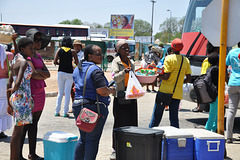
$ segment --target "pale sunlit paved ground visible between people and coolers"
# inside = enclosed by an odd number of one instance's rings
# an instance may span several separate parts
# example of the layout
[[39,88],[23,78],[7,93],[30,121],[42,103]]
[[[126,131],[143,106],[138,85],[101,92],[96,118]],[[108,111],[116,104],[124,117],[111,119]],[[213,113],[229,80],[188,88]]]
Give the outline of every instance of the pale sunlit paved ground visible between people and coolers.
[[[51,67],[49,67],[51,68]],[[51,70],[55,70],[54,67]],[[51,71],[53,73],[55,71]],[[106,72],[106,75],[109,76],[109,72]],[[56,78],[56,76],[55,76]],[[50,80],[51,79],[51,80]],[[55,92],[57,90],[56,79],[52,74],[52,77],[47,80],[48,87],[47,90]],[[55,86],[50,89],[50,86]],[[138,100],[138,114],[139,114],[139,126],[140,127],[148,127],[150,122],[153,103],[155,100],[155,93],[147,93],[144,97]],[[55,117],[54,116],[54,108],[56,103],[56,97],[48,97],[46,99],[45,108],[42,114],[42,117],[39,122],[39,131],[38,131],[38,143],[37,143],[37,154],[40,156],[44,156],[43,151],[43,136],[45,133],[50,131],[64,131],[70,132],[79,136],[77,127],[75,126],[73,115],[71,114],[69,118],[64,118],[62,116]],[[196,106],[195,103],[182,101],[181,110],[179,111],[180,118],[180,128],[194,128],[195,125],[204,125],[208,118],[208,113],[193,113],[191,109]],[[240,151],[240,112],[237,113],[237,118],[235,120],[234,127],[234,138],[235,141],[233,144],[227,144],[227,155],[229,158],[233,160],[240,160],[239,151]],[[169,125],[168,120],[168,111],[164,113],[163,120],[160,126]],[[103,135],[101,137],[99,152],[97,156],[97,160],[108,160],[111,154],[111,143],[112,143],[112,126],[113,126],[113,115],[112,115],[112,103],[109,106],[109,116],[104,127]],[[6,139],[0,139],[0,160],[8,160],[10,153],[10,139],[12,129],[5,132],[9,135]],[[23,150],[24,157],[26,158],[28,155],[28,139],[26,138],[26,142]]]

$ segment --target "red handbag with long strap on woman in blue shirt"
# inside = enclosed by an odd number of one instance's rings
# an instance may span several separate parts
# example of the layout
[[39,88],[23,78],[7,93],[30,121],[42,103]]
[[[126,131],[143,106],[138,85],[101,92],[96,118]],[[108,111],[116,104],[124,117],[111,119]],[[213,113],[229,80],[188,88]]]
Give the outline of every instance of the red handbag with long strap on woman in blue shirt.
[[[91,68],[92,66],[90,66],[88,68],[88,70]],[[87,72],[88,72],[87,70]],[[85,75],[85,79],[84,79],[84,86],[83,86],[83,99],[84,99],[84,94],[85,94],[85,89],[86,89],[86,79],[87,79],[87,72]],[[100,108],[99,108],[99,101],[98,101],[98,95],[96,94],[97,97],[97,110],[98,113],[88,109],[88,108],[84,108],[83,107],[83,101],[81,104],[81,111],[77,117],[76,120],[76,125],[77,127],[84,132],[92,132],[94,130],[94,128],[96,127],[96,124],[98,122],[98,119],[100,117]]]

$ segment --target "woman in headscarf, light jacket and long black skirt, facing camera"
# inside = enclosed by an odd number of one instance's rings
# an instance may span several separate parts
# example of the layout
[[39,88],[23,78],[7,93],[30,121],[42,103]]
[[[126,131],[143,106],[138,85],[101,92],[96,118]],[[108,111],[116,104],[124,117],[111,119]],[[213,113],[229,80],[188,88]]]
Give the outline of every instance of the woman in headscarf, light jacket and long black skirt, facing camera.
[[[123,126],[138,126],[137,100],[125,100],[123,95],[126,91],[129,71],[134,71],[134,62],[129,56],[129,46],[126,40],[120,40],[116,44],[117,57],[112,62],[112,75],[117,83],[116,94],[113,100],[113,128]],[[120,98],[121,97],[121,98]],[[126,102],[126,103],[122,103]],[[113,153],[110,159],[115,159],[115,141],[112,140]]]

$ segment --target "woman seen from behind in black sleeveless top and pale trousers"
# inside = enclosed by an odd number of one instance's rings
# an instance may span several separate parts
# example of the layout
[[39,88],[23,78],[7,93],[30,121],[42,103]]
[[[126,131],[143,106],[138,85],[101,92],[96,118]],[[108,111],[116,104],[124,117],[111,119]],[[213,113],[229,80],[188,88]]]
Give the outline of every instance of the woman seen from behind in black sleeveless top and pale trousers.
[[77,54],[72,48],[72,39],[69,36],[63,38],[62,47],[59,48],[54,57],[54,64],[58,67],[58,96],[55,108],[55,116],[60,116],[61,103],[63,94],[65,93],[65,104],[63,108],[63,117],[69,117],[69,103],[71,97],[71,88],[73,84],[73,65],[74,58],[75,64],[78,65]]

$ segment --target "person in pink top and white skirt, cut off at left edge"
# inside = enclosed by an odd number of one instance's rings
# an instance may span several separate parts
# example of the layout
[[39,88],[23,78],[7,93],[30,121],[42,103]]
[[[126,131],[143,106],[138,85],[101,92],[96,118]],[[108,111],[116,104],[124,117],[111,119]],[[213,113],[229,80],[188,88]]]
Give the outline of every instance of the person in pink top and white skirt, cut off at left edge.
[[12,117],[7,114],[7,82],[9,78],[9,61],[13,60],[13,53],[6,52],[0,44],[0,138],[7,138],[4,131],[12,127]]

